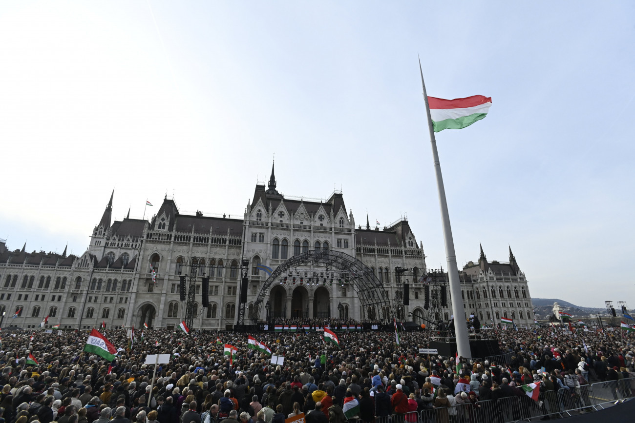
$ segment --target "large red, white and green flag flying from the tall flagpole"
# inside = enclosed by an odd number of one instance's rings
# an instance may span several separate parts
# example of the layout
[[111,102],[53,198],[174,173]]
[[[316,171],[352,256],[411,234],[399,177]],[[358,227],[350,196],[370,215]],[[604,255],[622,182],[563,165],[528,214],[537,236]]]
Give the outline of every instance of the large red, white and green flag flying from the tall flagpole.
[[491,97],[471,96],[445,100],[428,97],[434,132],[443,129],[463,129],[483,119],[491,106]]

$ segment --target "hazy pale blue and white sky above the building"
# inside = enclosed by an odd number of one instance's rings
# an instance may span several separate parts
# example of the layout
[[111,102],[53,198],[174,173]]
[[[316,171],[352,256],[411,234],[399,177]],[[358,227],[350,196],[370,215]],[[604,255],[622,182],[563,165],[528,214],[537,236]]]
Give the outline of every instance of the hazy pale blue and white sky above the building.
[[[396,3],[396,4],[395,4]],[[459,265],[507,261],[533,297],[635,307],[635,4],[0,3],[0,238],[81,254],[114,218],[242,217],[254,185],[407,214],[445,264],[431,96],[484,94],[437,141]]]

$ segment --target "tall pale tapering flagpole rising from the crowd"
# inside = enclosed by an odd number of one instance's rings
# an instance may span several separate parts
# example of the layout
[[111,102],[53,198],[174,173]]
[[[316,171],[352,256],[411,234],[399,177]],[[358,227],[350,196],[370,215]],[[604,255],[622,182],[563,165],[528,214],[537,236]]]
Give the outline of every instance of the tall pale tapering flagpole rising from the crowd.
[[448,202],[445,199],[445,188],[443,187],[443,175],[441,174],[441,163],[439,153],[436,148],[436,138],[434,138],[434,127],[430,115],[430,105],[428,95],[425,92],[424,71],[421,68],[419,59],[419,72],[421,72],[421,85],[424,88],[425,113],[428,117],[428,127],[430,130],[430,143],[432,144],[432,160],[434,161],[434,172],[436,173],[437,188],[439,190],[439,205],[441,206],[441,222],[443,223],[443,238],[445,239],[445,255],[448,260],[448,278],[450,279],[450,296],[452,297],[452,313],[454,314],[454,330],[457,334],[457,352],[459,356],[471,357],[470,340],[467,335],[465,325],[465,311],[461,297],[461,282],[458,279],[457,255],[454,252],[454,240],[452,239],[452,228],[450,226],[450,214],[448,213]]

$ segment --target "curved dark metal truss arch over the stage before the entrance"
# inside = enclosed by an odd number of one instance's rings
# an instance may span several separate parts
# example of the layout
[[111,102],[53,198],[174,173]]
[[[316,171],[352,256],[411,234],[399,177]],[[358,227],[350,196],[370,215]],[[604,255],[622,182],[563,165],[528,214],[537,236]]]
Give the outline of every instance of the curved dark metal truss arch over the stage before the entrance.
[[[302,266],[311,266],[310,270],[302,270],[302,274],[309,271],[308,278],[302,277],[301,272],[298,271],[298,267]],[[284,261],[262,283],[256,301],[253,303],[251,323],[256,324],[259,318],[264,318],[260,316],[263,301],[269,296],[272,285],[276,283],[349,286],[358,295],[363,310],[363,320],[380,320],[382,310],[392,314],[391,303],[385,293],[384,284],[368,266],[344,252],[330,249],[311,250]],[[392,315],[382,315],[381,318],[388,322],[392,320]]]

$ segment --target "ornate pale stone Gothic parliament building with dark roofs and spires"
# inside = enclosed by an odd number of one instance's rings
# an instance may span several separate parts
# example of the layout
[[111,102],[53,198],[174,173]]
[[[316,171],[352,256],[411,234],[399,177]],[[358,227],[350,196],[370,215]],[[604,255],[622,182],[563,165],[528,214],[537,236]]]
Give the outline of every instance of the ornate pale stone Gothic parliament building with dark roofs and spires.
[[[417,241],[408,219],[384,228],[356,225],[342,192],[328,199],[285,198],[276,190],[272,167],[267,186],[257,183],[253,198],[241,219],[180,214],[174,200],[164,198],[155,216],[112,221],[114,192],[104,215],[91,233],[90,245],[80,256],[44,251],[10,251],[0,240],[0,315],[4,327],[15,325],[91,329],[105,323],[112,327],[178,327],[185,319],[180,297],[181,277],[197,263],[194,327],[232,329],[237,323],[243,273],[246,273],[246,319],[253,317],[253,303],[269,277],[287,259],[310,250],[343,252],[374,273],[396,318],[417,325],[430,318],[423,244]],[[407,273],[396,273],[396,268]],[[153,276],[152,271],[156,272]],[[311,269],[295,269],[302,277]],[[335,273],[337,270],[331,270]],[[331,278],[333,277],[331,273]],[[534,323],[533,306],[525,273],[509,249],[509,261],[488,261],[481,247],[478,262],[470,261],[460,273],[464,316],[478,316],[481,324],[511,318],[519,326]],[[405,276],[404,276],[405,275]],[[192,278],[194,277],[194,278]],[[208,301],[202,301],[203,277],[209,278]],[[337,275],[335,275],[337,279]],[[153,280],[154,279],[154,280]],[[277,318],[348,318],[390,320],[389,309],[364,310],[352,284],[274,283],[265,292],[267,310],[259,320]],[[404,302],[408,286],[410,301]],[[444,289],[445,291],[445,289]],[[449,289],[447,297],[450,296]],[[206,307],[203,304],[208,303]],[[394,310],[394,309],[393,309]],[[11,318],[17,313],[15,318]],[[436,320],[452,317],[449,298],[438,304]]]

